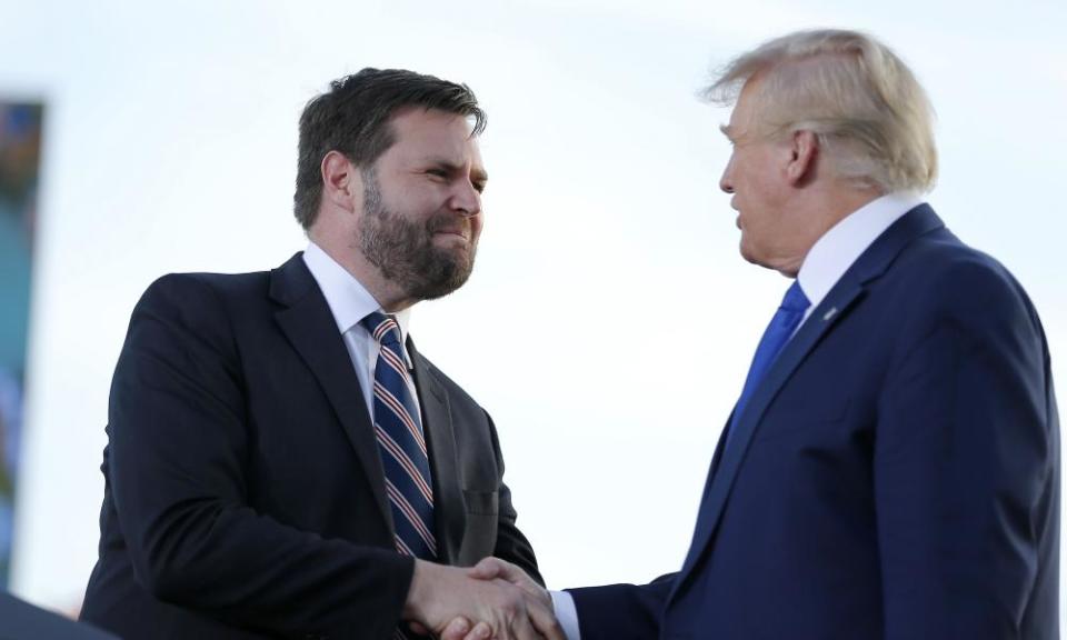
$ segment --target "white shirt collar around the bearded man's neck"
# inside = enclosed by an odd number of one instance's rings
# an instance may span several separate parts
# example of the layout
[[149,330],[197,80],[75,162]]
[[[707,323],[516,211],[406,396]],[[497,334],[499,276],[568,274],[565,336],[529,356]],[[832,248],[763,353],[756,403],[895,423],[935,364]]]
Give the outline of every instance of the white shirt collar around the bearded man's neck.
[[[367,288],[349,273],[343,267],[323,251],[315,242],[309,242],[303,251],[303,262],[311,271],[315,281],[319,283],[326,303],[337,322],[337,330],[342,334],[356,327],[367,316],[375,311],[382,311],[381,304],[367,291]],[[411,308],[392,313],[400,326],[400,342],[408,339],[408,322],[411,320]],[[407,351],[407,350],[405,350]],[[409,362],[410,364],[410,362]]]

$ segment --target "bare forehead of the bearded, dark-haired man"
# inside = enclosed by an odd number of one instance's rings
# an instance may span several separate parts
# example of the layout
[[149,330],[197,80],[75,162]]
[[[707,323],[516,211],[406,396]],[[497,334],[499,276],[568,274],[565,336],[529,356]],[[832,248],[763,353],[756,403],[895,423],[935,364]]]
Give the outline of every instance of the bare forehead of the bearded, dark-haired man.
[[473,127],[466,116],[408,109],[393,116],[390,126],[396,140],[386,153],[401,161],[437,158],[462,164],[481,162],[478,138],[471,136]]

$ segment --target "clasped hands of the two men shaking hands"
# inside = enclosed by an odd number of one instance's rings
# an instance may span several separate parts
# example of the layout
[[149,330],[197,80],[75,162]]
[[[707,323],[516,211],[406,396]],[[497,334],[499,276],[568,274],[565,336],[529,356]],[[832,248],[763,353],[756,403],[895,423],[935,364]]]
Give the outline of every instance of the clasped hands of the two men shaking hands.
[[401,617],[440,640],[567,640],[548,591],[499,558],[470,569],[416,560]]

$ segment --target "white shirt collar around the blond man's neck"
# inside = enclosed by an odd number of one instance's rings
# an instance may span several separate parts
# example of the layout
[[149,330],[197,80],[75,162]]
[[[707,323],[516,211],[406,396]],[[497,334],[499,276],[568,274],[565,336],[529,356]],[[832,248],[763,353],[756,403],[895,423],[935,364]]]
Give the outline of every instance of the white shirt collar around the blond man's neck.
[[809,312],[886,229],[921,202],[918,193],[888,193],[864,204],[824,233],[808,251],[797,274],[800,288],[811,301]]

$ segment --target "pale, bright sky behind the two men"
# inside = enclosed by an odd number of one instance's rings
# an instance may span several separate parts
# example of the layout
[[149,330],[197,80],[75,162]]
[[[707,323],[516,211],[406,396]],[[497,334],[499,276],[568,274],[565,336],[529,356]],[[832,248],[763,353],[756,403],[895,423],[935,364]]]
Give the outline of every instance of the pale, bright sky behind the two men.
[[768,38],[857,28],[911,66],[938,113],[929,202],[1027,289],[1065,389],[1063,6],[0,0],[0,99],[48,104],[13,590],[81,598],[108,388],[140,293],[166,272],[270,269],[301,250],[300,109],[368,66],[467,82],[489,113],[475,276],[417,307],[411,334],[492,414],[550,587],[647,581],[687,550],[788,286],[737,252],[718,190],[729,112],[695,94]]

